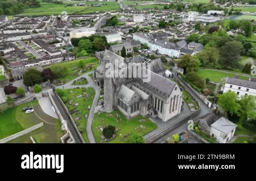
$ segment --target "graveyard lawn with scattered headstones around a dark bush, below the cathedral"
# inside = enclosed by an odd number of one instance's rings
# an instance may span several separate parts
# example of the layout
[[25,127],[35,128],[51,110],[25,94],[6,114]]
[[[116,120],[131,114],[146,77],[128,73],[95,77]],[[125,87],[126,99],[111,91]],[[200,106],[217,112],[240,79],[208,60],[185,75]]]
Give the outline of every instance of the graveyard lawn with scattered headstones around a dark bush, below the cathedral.
[[[109,125],[115,127],[114,136],[110,139],[103,134],[104,128]],[[120,111],[95,113],[92,124],[93,134],[97,143],[128,143],[132,135],[144,135],[156,128],[157,124],[149,120],[148,117],[137,116],[128,120]]]

